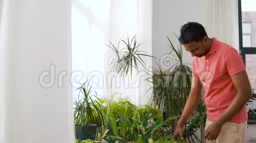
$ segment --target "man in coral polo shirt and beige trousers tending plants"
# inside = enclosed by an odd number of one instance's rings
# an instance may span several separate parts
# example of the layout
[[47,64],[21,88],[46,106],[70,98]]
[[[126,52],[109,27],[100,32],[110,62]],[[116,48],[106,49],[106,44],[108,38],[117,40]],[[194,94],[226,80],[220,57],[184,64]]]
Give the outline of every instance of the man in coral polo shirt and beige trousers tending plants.
[[181,27],[179,41],[193,57],[193,79],[173,137],[183,139],[182,126],[194,111],[203,87],[207,143],[246,143],[246,102],[252,89],[241,56],[232,46],[209,38],[196,22]]

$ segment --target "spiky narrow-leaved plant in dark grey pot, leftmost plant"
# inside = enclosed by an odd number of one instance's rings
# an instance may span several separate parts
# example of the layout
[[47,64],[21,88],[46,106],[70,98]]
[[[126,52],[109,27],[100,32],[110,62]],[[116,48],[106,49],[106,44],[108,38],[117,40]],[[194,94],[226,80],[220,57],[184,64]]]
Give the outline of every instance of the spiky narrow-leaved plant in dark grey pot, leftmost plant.
[[[91,86],[87,81],[76,89],[79,94],[74,101],[75,136],[79,140],[95,139],[97,127],[105,127],[105,118],[97,101],[100,99],[96,92],[92,95]],[[97,121],[100,125],[88,124],[90,121]]]

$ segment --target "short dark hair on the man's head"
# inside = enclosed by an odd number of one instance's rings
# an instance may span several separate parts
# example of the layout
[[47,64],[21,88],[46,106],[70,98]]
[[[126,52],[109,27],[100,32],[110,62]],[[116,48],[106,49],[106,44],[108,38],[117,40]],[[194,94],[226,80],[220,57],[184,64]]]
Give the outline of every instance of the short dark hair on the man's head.
[[207,36],[207,33],[203,25],[197,22],[188,22],[181,26],[179,41],[181,44],[187,44],[193,41],[199,42],[205,36]]

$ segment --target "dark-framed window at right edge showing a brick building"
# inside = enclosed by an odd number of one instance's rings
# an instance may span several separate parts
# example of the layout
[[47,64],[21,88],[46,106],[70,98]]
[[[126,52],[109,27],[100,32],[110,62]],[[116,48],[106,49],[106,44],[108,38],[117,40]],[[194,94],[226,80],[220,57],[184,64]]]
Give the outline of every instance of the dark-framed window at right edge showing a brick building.
[[[252,90],[256,89],[256,0],[238,0],[239,47]],[[248,109],[255,109],[256,101]]]

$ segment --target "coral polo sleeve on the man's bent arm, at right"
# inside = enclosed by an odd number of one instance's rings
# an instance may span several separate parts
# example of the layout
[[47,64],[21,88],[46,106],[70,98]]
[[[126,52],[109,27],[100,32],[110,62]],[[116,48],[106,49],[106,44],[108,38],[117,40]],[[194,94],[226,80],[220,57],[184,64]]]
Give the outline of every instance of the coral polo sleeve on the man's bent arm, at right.
[[225,64],[230,76],[245,71],[245,64],[242,56],[234,48],[230,48],[226,51]]

